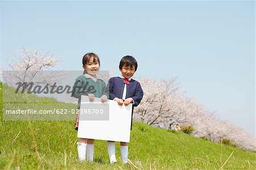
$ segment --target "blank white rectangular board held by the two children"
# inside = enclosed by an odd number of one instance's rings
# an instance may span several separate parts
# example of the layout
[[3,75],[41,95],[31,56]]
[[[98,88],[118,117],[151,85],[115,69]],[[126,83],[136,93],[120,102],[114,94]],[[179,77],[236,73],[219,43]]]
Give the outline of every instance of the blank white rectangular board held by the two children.
[[[89,102],[88,96],[81,96],[80,109],[86,109],[88,103],[90,105],[97,103],[98,106],[101,99],[94,98],[93,102]],[[117,102],[113,100],[108,100],[107,104],[109,104],[109,121],[82,121],[86,120],[85,114],[80,114],[78,138],[130,142],[132,105],[118,106]],[[101,105],[101,108],[108,109],[106,103],[101,103]]]

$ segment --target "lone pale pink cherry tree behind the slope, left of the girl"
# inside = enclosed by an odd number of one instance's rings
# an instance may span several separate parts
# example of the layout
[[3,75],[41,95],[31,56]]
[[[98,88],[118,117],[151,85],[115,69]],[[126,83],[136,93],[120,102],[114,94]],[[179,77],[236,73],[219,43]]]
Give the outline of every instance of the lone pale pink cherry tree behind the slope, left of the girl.
[[[53,84],[61,79],[61,74],[50,71],[59,62],[59,58],[47,52],[43,55],[39,49],[35,52],[20,49],[23,55],[16,55],[15,59],[10,59],[7,68],[1,68],[3,80],[9,85],[15,86],[16,82],[21,82],[25,89],[28,83]],[[43,72],[47,71],[47,72]]]

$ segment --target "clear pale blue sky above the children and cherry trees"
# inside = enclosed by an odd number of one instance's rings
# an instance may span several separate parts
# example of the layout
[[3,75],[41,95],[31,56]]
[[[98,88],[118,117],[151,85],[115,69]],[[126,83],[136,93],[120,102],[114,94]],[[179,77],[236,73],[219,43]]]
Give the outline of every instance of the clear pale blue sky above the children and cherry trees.
[[1,66],[20,47],[82,70],[86,52],[119,73],[122,56],[138,77],[178,77],[188,97],[255,136],[254,1],[1,1]]

